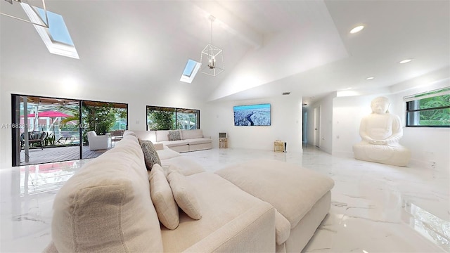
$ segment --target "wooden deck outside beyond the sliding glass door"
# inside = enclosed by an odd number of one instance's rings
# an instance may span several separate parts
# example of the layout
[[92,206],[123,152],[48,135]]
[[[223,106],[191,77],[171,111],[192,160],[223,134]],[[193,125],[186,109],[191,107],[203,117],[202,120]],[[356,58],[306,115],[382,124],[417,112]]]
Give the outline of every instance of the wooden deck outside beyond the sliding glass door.
[[[100,156],[107,150],[89,150],[89,146],[83,146],[83,159],[90,159]],[[63,162],[79,160],[79,146],[51,147],[30,149],[30,161],[25,162],[25,151],[20,152],[20,165],[42,164],[47,162]]]

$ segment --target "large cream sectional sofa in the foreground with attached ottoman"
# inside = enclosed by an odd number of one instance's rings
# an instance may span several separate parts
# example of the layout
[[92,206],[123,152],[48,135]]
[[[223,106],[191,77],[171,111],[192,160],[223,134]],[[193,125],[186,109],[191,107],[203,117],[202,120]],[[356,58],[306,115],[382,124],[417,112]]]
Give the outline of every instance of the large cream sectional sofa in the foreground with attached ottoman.
[[273,160],[211,173],[154,145],[170,187],[172,173],[182,174],[201,211],[192,219],[180,209],[178,226],[166,228],[139,143],[127,131],[65,183],[45,252],[301,252],[330,208],[328,176]]

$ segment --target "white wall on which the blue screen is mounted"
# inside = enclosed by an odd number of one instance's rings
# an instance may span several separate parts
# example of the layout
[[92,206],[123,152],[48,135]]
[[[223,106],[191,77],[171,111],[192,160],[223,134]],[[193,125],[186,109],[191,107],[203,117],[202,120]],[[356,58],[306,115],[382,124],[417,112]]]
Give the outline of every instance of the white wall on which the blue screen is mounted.
[[[271,126],[234,126],[233,106],[271,104]],[[258,100],[207,103],[202,111],[204,134],[212,136],[217,148],[219,132],[228,134],[229,148],[273,150],[274,141],[288,143],[288,152],[302,151],[302,99],[278,96]]]

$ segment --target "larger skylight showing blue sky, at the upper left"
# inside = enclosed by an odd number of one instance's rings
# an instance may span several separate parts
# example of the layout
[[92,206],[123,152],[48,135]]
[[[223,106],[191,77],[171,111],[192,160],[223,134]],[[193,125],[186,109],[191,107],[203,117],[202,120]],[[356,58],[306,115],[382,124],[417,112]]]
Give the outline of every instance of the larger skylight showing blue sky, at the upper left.
[[[28,18],[30,18],[30,21],[44,24],[42,21],[46,18],[44,9],[28,4],[20,4],[25,13],[27,13]],[[49,28],[41,27],[39,25],[34,25],[34,28],[36,28],[37,33],[41,36],[41,39],[44,41],[47,49],[49,49],[49,52],[60,56],[79,59],[77,49],[75,49],[75,45],[70,37],[68,27],[65,26],[63,16],[47,11],[47,17],[49,18]]]

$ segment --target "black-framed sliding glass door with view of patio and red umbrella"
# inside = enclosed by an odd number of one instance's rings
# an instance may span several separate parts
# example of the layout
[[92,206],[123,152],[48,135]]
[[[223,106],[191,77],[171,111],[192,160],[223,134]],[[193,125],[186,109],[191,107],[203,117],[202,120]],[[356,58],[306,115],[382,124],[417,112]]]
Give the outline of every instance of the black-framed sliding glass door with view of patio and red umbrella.
[[87,131],[105,135],[127,129],[128,105],[13,94],[13,166],[94,158]]

